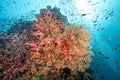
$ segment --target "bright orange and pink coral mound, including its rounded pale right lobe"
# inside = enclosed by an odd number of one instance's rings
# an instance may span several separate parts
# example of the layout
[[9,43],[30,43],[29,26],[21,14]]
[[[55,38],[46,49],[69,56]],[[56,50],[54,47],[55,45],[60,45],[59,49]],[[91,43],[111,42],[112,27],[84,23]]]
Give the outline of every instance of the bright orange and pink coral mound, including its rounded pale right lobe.
[[59,15],[48,7],[36,16],[37,22],[33,24],[36,40],[26,43],[31,47],[29,59],[34,75],[51,73],[60,76],[64,68],[70,69],[70,74],[76,74],[89,68],[90,34],[76,25],[65,28],[66,21]]

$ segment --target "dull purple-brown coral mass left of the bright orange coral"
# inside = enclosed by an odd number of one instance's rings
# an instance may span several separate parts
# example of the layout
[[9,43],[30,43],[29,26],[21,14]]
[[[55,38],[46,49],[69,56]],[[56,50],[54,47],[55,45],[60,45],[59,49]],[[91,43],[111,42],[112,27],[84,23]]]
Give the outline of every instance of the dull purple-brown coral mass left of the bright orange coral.
[[32,38],[32,23],[15,23],[7,33],[0,32],[0,80],[16,79],[27,70],[28,50],[24,45]]

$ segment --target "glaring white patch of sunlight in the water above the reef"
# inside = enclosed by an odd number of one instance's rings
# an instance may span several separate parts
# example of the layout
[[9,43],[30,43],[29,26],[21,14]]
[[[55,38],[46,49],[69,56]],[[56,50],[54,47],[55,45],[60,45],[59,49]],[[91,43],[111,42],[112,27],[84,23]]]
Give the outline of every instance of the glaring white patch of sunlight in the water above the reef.
[[[93,3],[93,2],[92,2]],[[82,14],[86,21],[90,21],[95,16],[95,7],[87,0],[75,0],[75,6],[78,13]]]

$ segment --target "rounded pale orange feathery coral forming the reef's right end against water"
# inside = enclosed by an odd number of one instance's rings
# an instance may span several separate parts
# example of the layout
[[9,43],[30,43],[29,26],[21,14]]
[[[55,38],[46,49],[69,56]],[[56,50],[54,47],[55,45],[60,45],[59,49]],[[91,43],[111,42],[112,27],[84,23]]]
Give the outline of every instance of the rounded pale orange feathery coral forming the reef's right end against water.
[[[63,50],[67,56],[61,60],[61,67],[69,68],[73,73],[77,71],[84,72],[89,68],[92,51],[90,50],[91,36],[83,27],[71,25],[65,29],[67,44]],[[66,46],[67,45],[67,46]],[[60,66],[59,63],[55,64]]]

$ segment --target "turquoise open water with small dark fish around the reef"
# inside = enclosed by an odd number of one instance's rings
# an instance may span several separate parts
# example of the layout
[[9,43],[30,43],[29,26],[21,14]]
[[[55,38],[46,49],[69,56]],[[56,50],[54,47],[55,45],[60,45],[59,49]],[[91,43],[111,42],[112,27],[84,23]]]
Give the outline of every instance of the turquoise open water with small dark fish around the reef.
[[57,7],[69,23],[84,25],[92,35],[91,69],[96,80],[120,80],[119,0],[0,0],[0,31],[20,20],[34,21],[46,6]]

